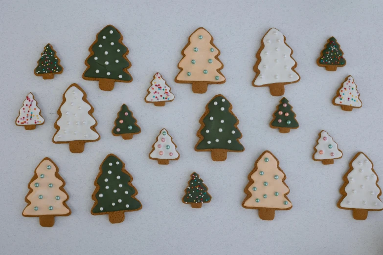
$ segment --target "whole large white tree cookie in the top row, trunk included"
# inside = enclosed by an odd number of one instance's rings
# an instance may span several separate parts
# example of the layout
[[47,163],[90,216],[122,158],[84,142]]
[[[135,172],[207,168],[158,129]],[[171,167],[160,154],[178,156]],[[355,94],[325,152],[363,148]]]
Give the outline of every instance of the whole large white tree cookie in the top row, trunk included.
[[270,28],[262,38],[261,47],[256,54],[257,62],[253,69],[257,74],[253,86],[269,86],[271,95],[282,96],[285,85],[300,80],[292,55],[293,50],[287,45],[286,37],[277,29]]

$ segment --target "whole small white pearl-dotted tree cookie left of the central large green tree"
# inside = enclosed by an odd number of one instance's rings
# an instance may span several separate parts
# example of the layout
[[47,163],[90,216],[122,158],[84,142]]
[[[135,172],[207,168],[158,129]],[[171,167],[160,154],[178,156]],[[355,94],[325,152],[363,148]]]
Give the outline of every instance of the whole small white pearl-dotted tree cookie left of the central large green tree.
[[153,144],[149,158],[158,161],[159,165],[168,165],[169,160],[178,160],[180,154],[177,152],[177,145],[173,143],[173,138],[168,131],[163,128],[157,136],[157,142]]

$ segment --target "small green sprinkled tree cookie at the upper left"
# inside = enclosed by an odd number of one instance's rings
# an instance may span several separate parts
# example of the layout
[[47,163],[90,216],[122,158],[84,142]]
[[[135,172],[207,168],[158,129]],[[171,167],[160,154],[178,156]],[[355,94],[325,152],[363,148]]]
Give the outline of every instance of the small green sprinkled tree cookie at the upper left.
[[43,76],[44,80],[53,79],[55,74],[61,74],[64,70],[60,65],[60,59],[56,56],[56,51],[49,43],[44,47],[37,64],[35,75]]

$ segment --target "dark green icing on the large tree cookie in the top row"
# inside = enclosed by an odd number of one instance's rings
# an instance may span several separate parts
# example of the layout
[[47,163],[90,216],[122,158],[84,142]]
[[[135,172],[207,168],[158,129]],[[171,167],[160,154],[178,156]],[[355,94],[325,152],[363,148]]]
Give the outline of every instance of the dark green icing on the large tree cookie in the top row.
[[[110,31],[113,31],[111,34]],[[105,36],[105,39],[103,37]],[[130,81],[132,76],[124,72],[124,69],[130,67],[129,62],[126,59],[126,56],[123,55],[128,51],[128,48],[123,44],[119,43],[121,34],[113,26],[106,26],[102,29],[97,36],[97,40],[93,43],[92,51],[93,54],[87,59],[87,64],[89,68],[84,73],[85,77],[90,78],[106,78],[106,79],[115,79],[121,81]],[[113,45],[111,45],[113,43]],[[102,45],[100,47],[100,45]],[[118,52],[119,50],[119,52]],[[108,51],[108,54],[105,54],[105,51]],[[97,58],[95,60],[94,58]],[[118,60],[118,63],[116,63]],[[105,64],[108,61],[109,64]],[[98,73],[96,73],[98,70]],[[110,75],[107,73],[110,72]],[[121,78],[118,76],[122,75]]]

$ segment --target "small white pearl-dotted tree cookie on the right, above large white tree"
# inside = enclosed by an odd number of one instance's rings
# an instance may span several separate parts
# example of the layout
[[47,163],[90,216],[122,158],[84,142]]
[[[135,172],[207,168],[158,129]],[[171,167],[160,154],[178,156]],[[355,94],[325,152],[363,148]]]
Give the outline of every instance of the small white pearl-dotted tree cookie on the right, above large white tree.
[[314,149],[313,159],[322,161],[323,165],[334,164],[334,159],[342,157],[342,151],[338,149],[338,144],[324,130],[319,132],[319,138]]

